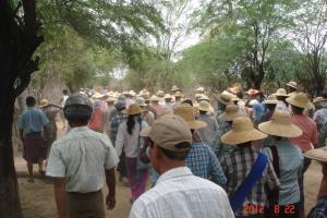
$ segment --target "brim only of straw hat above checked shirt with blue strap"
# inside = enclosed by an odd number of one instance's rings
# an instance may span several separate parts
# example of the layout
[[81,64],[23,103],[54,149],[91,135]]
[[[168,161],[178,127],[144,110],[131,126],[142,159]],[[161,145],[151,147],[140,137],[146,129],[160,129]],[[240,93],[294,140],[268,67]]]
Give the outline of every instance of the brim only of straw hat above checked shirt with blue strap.
[[231,130],[221,136],[221,142],[228,145],[238,145],[246,142],[264,140],[266,137],[267,134],[255,129],[242,132],[235,132]]

